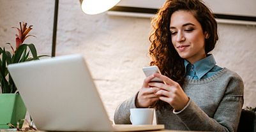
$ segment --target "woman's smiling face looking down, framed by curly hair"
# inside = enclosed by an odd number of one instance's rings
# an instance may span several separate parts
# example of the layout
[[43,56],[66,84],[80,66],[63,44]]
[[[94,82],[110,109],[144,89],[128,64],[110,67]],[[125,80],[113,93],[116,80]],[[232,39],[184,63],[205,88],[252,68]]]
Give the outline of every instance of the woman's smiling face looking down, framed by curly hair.
[[195,63],[206,57],[202,26],[191,11],[179,10],[170,17],[170,33],[172,43],[179,56],[190,63]]

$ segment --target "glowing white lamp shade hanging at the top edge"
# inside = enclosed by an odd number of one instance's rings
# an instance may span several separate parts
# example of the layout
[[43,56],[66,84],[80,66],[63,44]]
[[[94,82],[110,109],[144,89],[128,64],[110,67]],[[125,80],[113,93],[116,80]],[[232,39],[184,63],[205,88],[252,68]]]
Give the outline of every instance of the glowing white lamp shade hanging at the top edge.
[[80,0],[84,13],[95,15],[109,10],[121,0]]

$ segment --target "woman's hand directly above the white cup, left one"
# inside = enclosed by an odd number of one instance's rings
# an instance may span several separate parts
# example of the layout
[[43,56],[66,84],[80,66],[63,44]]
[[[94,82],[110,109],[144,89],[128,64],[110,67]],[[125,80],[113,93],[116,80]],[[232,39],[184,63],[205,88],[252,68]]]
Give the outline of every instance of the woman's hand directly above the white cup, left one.
[[158,87],[149,87],[149,82],[153,78],[154,75],[151,75],[144,80],[142,88],[139,90],[139,94],[137,96],[137,107],[148,107],[153,105],[153,103],[159,99],[155,93],[160,89]]

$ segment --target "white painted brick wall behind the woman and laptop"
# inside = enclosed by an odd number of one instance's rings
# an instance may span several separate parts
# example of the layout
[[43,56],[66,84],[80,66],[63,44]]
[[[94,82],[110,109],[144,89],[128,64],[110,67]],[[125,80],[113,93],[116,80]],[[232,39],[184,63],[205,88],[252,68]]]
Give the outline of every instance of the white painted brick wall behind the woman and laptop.
[[[79,1],[59,1],[56,55],[83,54],[110,118],[116,106],[142,85],[142,67],[150,61],[150,20],[86,15]],[[19,21],[33,25],[25,42],[39,54],[51,52],[54,1],[0,0],[0,45],[15,45]],[[213,52],[220,66],[236,71],[245,82],[245,105],[256,106],[256,26],[219,24],[220,41]],[[8,46],[5,46],[8,48]],[[253,96],[254,95],[254,96]]]

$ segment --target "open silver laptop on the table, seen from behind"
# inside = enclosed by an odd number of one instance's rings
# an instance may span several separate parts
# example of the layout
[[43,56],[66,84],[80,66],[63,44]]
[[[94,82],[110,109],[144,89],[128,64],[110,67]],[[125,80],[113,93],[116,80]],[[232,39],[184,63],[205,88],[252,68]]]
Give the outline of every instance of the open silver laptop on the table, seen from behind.
[[37,129],[146,131],[163,125],[113,125],[82,55],[63,55],[8,66]]

